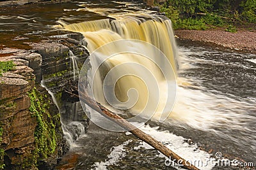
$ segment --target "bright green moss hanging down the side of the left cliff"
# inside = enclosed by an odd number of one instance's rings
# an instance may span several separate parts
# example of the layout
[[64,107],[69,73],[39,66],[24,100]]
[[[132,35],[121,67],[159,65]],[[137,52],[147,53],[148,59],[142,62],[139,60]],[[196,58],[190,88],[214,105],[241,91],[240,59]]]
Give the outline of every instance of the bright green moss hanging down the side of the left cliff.
[[[33,89],[29,93],[31,106],[29,111],[32,117],[36,117],[37,125],[35,129],[35,150],[33,161],[36,164],[38,159],[45,159],[56,150],[55,126],[52,123],[51,115],[47,111],[49,103],[40,92]],[[47,122],[48,120],[48,122]]]

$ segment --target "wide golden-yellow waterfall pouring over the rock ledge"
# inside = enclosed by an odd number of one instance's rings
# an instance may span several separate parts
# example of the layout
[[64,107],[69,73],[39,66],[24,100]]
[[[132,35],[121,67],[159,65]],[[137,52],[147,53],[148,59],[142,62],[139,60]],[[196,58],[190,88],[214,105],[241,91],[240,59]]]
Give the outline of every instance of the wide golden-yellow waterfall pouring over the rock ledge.
[[146,13],[109,17],[115,19],[62,23],[88,43],[92,88],[86,90],[109,109],[165,120],[175,101],[178,68],[171,21]]

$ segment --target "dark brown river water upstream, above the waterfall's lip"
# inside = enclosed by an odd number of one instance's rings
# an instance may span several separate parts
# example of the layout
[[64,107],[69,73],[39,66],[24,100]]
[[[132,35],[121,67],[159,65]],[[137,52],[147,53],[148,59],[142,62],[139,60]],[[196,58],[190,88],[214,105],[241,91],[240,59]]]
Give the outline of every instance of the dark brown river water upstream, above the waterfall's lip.
[[[108,18],[92,12],[76,11],[79,3],[38,3],[0,8],[0,44],[2,48],[29,48],[26,43],[38,42],[61,31],[52,26],[57,20],[76,23]],[[62,32],[63,33],[63,32]]]

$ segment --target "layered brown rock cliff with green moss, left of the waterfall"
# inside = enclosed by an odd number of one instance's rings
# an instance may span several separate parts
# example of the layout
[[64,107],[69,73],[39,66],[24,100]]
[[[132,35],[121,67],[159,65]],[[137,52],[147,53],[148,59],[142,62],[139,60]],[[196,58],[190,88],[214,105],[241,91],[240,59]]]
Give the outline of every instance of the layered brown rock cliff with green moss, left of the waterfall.
[[[76,47],[76,38],[81,39],[76,36],[61,43],[33,45],[38,53],[10,48],[0,51],[0,62],[12,60],[15,64],[11,71],[0,74],[0,167],[51,169],[67,152],[59,109],[40,81],[44,77],[47,87],[60,98],[68,81],[75,81],[68,52],[73,50],[81,61],[87,57]],[[80,119],[84,120],[83,114]]]

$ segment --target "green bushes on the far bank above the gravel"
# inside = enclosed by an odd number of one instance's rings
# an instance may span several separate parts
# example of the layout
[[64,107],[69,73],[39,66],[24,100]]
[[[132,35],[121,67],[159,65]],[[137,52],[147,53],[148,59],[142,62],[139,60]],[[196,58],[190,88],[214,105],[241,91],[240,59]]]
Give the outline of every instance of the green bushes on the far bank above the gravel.
[[168,0],[159,6],[172,20],[174,29],[205,30],[256,22],[256,0]]

